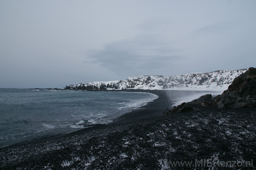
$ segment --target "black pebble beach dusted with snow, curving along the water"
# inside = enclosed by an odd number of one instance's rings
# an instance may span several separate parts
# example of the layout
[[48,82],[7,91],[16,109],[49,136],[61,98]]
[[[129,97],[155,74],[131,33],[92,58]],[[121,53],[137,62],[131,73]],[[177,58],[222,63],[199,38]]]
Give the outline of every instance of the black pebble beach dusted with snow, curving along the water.
[[[171,105],[165,91],[143,92],[159,98],[112,124],[0,148],[0,169],[256,168],[255,109],[162,116]],[[178,165],[184,161],[191,164]]]

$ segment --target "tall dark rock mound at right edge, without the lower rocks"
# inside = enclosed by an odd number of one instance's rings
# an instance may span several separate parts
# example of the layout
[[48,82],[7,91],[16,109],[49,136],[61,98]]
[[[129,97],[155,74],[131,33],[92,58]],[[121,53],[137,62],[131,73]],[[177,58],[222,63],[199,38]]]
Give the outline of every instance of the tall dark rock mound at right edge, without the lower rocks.
[[256,107],[256,68],[249,68],[234,79],[216,100],[219,109]]

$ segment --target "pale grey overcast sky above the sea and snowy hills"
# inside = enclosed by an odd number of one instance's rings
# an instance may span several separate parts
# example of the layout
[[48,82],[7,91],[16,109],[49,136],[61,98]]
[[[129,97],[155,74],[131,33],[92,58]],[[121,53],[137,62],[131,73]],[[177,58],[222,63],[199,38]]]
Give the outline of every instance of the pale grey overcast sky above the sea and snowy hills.
[[0,88],[256,67],[255,0],[1,0]]

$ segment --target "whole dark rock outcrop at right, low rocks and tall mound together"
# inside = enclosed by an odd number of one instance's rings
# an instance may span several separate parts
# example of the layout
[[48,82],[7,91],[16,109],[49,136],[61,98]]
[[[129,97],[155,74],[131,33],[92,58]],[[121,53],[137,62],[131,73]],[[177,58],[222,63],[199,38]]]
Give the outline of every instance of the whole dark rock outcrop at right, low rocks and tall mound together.
[[211,94],[201,96],[191,102],[182,103],[173,108],[166,108],[164,115],[170,113],[200,110],[204,106],[216,105],[218,109],[225,108],[255,108],[256,107],[256,68],[249,68],[245,73],[234,79],[222,95],[212,98]]

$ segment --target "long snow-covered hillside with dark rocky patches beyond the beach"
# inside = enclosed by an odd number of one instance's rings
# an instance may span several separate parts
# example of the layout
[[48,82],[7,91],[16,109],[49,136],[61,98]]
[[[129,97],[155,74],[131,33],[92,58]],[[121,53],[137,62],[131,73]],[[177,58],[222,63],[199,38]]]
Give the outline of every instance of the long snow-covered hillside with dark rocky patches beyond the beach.
[[241,70],[218,70],[210,73],[187,73],[184,75],[144,75],[128,77],[126,80],[80,83],[67,85],[65,89],[182,89],[182,90],[226,90],[234,78],[244,73]]

